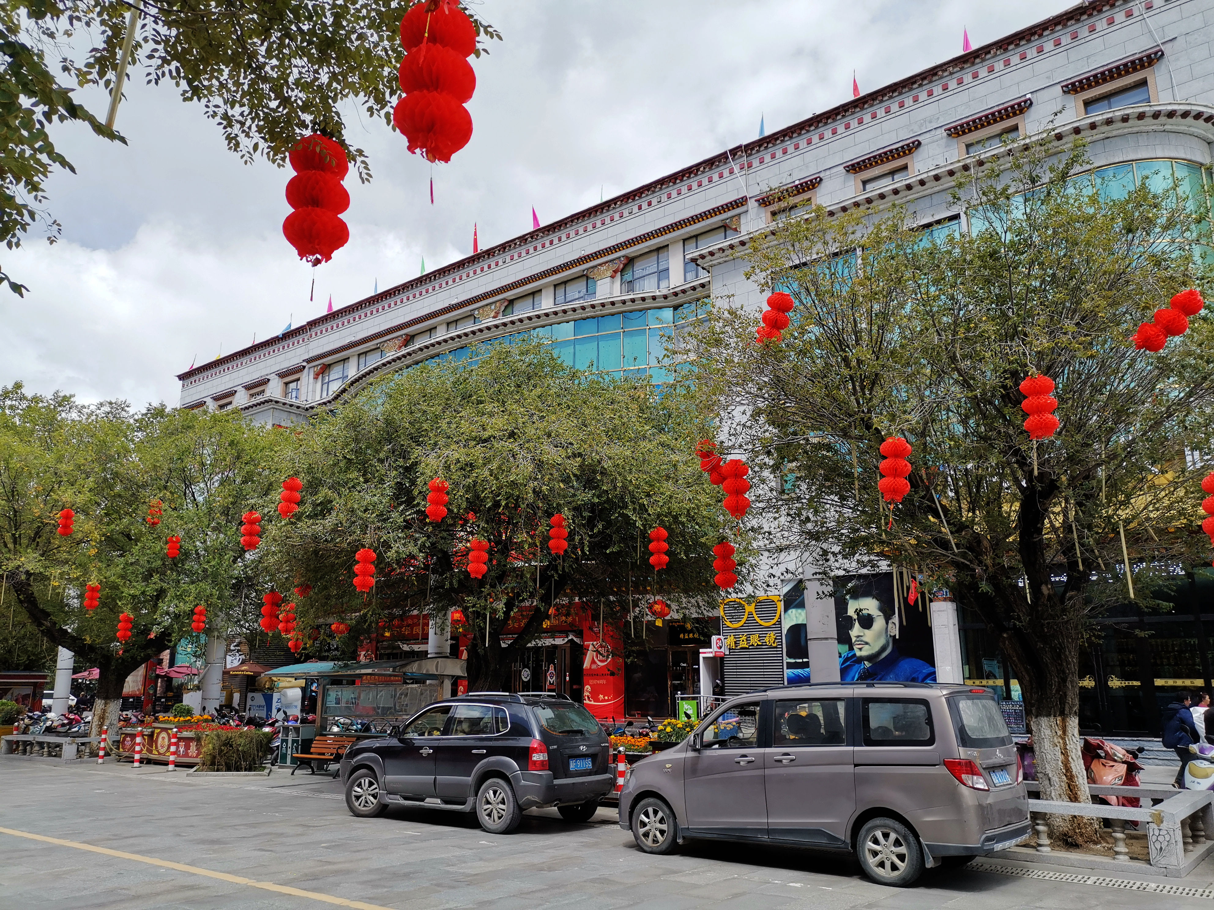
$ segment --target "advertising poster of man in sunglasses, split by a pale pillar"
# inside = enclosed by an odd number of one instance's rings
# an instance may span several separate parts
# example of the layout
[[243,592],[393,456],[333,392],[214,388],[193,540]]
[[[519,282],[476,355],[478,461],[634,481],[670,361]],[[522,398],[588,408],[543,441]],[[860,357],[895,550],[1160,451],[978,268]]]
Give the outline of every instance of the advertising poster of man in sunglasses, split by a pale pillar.
[[[892,571],[839,575],[833,581],[840,679],[936,682],[930,614],[918,584],[896,595]],[[799,586],[789,601],[785,676],[790,683],[810,682],[804,590]]]

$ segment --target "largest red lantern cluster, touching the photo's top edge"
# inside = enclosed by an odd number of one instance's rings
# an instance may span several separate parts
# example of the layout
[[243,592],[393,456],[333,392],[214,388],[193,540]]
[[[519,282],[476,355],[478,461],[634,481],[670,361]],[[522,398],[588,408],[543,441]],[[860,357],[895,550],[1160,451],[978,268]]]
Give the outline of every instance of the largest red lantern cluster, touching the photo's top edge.
[[401,19],[401,90],[392,123],[427,161],[450,161],[472,138],[472,115],[464,107],[476,91],[467,58],[476,50],[476,27],[453,0],[422,0]]

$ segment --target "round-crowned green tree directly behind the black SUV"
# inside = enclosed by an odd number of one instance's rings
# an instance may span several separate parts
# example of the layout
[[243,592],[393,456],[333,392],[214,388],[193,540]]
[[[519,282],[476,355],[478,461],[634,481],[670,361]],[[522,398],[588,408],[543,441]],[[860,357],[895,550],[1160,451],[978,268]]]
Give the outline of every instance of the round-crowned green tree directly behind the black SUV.
[[[711,547],[724,512],[693,454],[696,423],[676,396],[572,370],[541,345],[497,346],[475,366],[427,363],[387,377],[318,420],[283,471],[304,501],[266,538],[283,584],[307,584],[301,626],[344,616],[353,649],[388,612],[465,616],[475,689],[500,689],[552,604],[578,599],[608,621],[643,609],[642,584],[697,613],[714,599]],[[450,484],[448,514],[425,514],[427,483]],[[568,551],[548,546],[561,513]],[[670,564],[654,580],[648,531],[669,533]],[[466,547],[488,541],[473,580]],[[352,586],[354,553],[378,553],[367,597]],[[537,608],[538,603],[538,608]],[[518,612],[526,622],[503,644]],[[331,641],[328,631],[324,641]]]

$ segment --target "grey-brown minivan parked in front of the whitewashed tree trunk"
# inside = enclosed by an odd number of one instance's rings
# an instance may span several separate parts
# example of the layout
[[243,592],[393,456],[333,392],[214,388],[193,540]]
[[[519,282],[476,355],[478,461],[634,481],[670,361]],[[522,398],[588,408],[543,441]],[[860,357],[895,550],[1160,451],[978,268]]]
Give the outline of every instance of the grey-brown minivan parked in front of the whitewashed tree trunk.
[[889,682],[732,699],[629,770],[619,825],[646,853],[698,837],[846,851],[892,886],[1031,830],[1020,760],[991,692]]

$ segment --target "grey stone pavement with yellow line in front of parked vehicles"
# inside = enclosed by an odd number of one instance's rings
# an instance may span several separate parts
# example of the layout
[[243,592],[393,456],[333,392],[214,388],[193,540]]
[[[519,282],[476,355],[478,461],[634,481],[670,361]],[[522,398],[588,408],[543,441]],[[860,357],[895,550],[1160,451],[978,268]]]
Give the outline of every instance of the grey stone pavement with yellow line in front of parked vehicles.
[[[467,815],[424,809],[356,819],[337,781],[278,770],[200,783],[161,767],[0,760],[0,829],[4,910],[1214,908],[1208,898],[982,871],[927,872],[918,887],[896,891],[828,854],[733,844],[648,857],[611,809],[585,825],[531,812],[506,837],[486,835]],[[1210,866],[1185,880],[1129,877],[1209,888]]]

